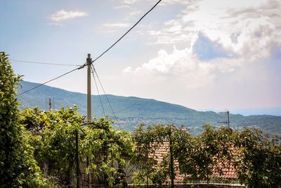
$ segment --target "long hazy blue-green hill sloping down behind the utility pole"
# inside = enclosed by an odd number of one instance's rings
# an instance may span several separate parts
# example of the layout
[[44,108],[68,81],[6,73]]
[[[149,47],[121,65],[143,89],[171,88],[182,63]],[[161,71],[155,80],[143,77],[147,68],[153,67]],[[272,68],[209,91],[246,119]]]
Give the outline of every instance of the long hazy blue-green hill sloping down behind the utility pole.
[[[19,89],[19,93],[38,85],[37,83],[25,81],[22,81],[20,84],[22,84],[22,88]],[[44,110],[48,109],[46,105],[46,99],[48,98],[54,99],[55,108],[73,106],[75,104],[79,106],[79,112],[86,115],[86,94],[68,92],[64,89],[43,85],[18,96],[18,100],[21,101],[20,108],[39,106]],[[107,98],[115,111],[117,120],[119,120],[119,126],[125,130],[133,130],[136,125],[144,121],[145,123],[174,123],[176,125],[185,125],[189,127],[192,134],[197,134],[201,132],[204,123],[221,125],[218,122],[226,121],[225,114],[215,113],[214,111],[195,111],[191,108],[156,101],[154,99],[115,95],[107,95]],[[101,95],[100,99],[103,102],[105,114],[113,119],[114,116],[112,115],[105,95]],[[97,118],[103,116],[99,98],[95,95],[92,96],[92,112]],[[255,126],[271,134],[273,132],[281,134],[281,116],[244,116],[230,114],[230,126],[237,128]]]

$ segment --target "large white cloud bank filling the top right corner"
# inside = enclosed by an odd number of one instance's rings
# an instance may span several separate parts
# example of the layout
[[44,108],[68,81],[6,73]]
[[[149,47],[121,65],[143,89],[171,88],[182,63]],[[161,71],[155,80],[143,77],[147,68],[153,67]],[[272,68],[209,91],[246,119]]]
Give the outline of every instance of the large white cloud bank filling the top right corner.
[[[236,1],[235,1],[236,2]],[[244,58],[270,56],[271,46],[281,46],[281,1],[200,1],[188,4],[178,18],[159,30],[148,30],[154,44],[189,44],[198,32]]]

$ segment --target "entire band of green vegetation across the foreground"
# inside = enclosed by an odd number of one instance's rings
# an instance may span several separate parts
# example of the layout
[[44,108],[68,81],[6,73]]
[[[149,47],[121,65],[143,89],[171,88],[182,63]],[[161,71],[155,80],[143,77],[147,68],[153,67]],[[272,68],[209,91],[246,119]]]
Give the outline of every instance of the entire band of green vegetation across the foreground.
[[[201,134],[192,136],[184,126],[141,123],[131,136],[112,128],[110,119],[85,120],[77,106],[20,111],[20,76],[14,75],[4,53],[0,70],[0,187],[79,187],[85,182],[126,187],[131,178],[136,184],[174,187],[177,168],[187,175],[186,181],[209,182],[230,163],[247,187],[281,187],[277,135],[254,127],[204,125]],[[161,161],[155,160],[165,143],[167,152]]]

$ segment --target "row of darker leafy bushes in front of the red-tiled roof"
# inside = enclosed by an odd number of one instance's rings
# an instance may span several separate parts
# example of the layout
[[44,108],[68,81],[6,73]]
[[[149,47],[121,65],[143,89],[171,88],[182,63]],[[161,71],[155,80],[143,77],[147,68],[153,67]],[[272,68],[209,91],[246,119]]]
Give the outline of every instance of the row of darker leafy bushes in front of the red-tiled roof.
[[[171,184],[176,168],[186,175],[185,181],[216,179],[223,168],[234,165],[237,179],[247,187],[281,187],[281,139],[269,137],[261,130],[244,127],[242,131],[204,125],[204,132],[194,137],[174,125],[139,125],[133,134],[136,144],[134,160],[138,171],[136,184]],[[162,161],[155,151],[164,142],[169,148]],[[178,165],[175,165],[176,161]],[[218,179],[217,179],[218,180]]]

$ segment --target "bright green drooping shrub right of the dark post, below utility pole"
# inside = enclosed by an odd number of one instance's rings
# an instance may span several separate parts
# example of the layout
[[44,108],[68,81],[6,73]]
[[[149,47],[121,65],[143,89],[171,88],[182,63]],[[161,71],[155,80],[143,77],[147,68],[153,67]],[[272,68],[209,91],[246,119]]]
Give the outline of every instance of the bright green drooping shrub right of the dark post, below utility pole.
[[[80,150],[82,161],[87,164],[88,174],[103,179],[105,185],[126,186],[125,158],[131,158],[131,135],[112,128],[112,120],[100,118],[82,129]],[[127,159],[127,161],[129,161]]]

